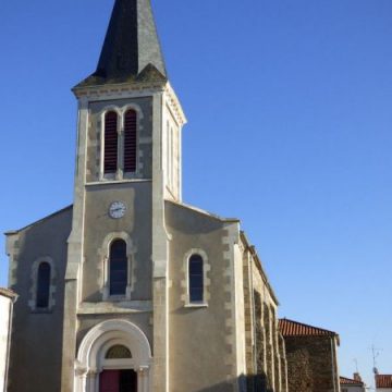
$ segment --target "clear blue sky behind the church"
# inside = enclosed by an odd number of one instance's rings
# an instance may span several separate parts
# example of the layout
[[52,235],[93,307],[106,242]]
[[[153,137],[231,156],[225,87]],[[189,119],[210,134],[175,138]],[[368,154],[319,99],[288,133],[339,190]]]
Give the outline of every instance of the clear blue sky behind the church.
[[[242,219],[280,316],[340,333],[342,375],[356,358],[370,383],[372,344],[392,372],[392,2],[154,3],[189,121],[184,200]],[[95,70],[111,7],[2,4],[2,232],[72,203],[70,88]]]

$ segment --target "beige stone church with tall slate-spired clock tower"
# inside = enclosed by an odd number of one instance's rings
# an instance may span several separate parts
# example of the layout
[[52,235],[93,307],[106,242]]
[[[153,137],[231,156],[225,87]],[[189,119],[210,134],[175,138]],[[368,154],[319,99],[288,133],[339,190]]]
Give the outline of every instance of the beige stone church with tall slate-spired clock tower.
[[74,203],[7,233],[9,392],[287,392],[255,248],[238,220],[182,200],[186,118],[149,0],[115,0],[73,93]]

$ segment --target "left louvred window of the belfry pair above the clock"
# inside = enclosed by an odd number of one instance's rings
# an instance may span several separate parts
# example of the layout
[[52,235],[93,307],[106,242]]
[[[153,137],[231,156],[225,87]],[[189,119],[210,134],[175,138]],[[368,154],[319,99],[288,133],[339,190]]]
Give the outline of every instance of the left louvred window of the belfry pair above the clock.
[[105,115],[105,174],[115,173],[118,169],[118,114],[110,111]]

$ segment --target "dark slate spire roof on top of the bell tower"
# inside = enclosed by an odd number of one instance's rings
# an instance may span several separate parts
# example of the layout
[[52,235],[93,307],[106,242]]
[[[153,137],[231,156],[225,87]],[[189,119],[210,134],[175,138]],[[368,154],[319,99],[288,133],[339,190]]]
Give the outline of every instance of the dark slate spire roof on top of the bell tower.
[[76,87],[167,81],[150,0],[115,0],[97,71]]

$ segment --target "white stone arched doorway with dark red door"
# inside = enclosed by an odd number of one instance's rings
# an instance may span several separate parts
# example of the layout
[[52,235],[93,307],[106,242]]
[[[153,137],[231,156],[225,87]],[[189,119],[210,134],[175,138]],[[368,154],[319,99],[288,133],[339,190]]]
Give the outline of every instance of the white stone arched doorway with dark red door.
[[75,363],[76,392],[148,392],[151,350],[143,331],[108,320],[83,339]]

